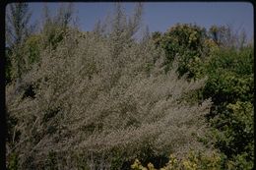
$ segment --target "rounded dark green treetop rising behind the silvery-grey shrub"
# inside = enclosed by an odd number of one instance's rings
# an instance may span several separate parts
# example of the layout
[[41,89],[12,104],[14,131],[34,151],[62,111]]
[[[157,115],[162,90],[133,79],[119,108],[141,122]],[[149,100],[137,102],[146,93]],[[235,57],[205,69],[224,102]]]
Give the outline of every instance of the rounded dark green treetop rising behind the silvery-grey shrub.
[[[157,35],[157,34],[156,34]],[[180,76],[188,73],[193,78],[195,73],[191,69],[195,61],[204,60],[205,28],[196,25],[177,24],[169,28],[160,40],[160,46],[164,49],[165,67],[169,70],[174,58],[178,61],[178,73]]]

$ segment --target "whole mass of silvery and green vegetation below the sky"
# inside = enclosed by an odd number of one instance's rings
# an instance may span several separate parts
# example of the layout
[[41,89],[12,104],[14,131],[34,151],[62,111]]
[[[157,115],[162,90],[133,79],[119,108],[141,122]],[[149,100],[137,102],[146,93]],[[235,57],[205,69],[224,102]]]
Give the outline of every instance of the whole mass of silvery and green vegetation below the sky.
[[41,30],[25,33],[28,4],[10,10],[8,169],[253,169],[244,32],[177,24],[137,40],[142,4],[127,16],[117,3],[87,32],[71,25],[71,4],[55,16],[45,6]]

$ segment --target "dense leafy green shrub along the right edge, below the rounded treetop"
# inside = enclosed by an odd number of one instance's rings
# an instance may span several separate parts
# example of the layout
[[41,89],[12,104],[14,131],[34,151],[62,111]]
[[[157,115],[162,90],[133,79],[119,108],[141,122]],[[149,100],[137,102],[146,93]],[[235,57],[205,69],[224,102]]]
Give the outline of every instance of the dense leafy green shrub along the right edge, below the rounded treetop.
[[246,154],[244,163],[249,164],[254,159],[252,63],[251,47],[217,51],[206,66],[209,80],[204,89],[214,102],[209,118],[220,133],[216,145],[232,161]]

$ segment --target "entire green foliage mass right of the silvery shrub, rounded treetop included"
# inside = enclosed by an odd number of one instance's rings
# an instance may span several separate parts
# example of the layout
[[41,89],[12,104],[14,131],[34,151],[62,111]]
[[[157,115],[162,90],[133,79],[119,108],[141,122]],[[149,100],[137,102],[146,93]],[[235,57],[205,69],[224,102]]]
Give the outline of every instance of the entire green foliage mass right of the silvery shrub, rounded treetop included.
[[[153,33],[153,39],[167,53],[166,68],[177,58],[180,76],[186,73],[190,80],[208,77],[206,85],[192,100],[212,98],[211,112],[206,118],[213,127],[215,146],[234,167],[251,169],[254,54],[252,44],[245,43],[244,32],[234,34],[230,27],[216,26],[207,32],[192,25],[177,25],[163,34]],[[190,39],[195,40],[194,44],[197,42],[196,48],[191,48]]]

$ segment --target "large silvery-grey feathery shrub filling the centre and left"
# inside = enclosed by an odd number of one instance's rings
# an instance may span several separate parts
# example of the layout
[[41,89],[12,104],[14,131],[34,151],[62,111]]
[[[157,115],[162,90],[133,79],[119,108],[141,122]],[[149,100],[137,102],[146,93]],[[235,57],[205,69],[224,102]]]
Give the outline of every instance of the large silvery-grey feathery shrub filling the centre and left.
[[55,50],[40,51],[40,62],[24,77],[34,86],[34,97],[12,96],[12,85],[7,86],[7,110],[21,134],[12,147],[20,168],[52,162],[75,167],[71,152],[81,152],[85,166],[118,169],[137,155],[166,157],[169,151],[182,155],[188,147],[204,148],[191,134],[204,134],[202,115],[210,102],[180,100],[204,81],[188,83],[175,70],[164,74],[163,52],[151,40],[123,39],[116,56],[113,39],[70,31]]

